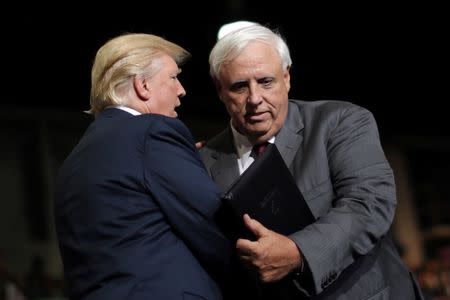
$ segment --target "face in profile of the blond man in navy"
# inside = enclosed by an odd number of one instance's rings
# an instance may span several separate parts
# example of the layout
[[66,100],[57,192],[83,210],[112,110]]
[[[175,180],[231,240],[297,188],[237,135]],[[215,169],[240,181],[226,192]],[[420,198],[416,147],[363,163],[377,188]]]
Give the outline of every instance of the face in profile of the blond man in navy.
[[152,91],[149,100],[150,111],[168,117],[177,117],[175,108],[181,105],[179,97],[186,94],[177,77],[181,70],[168,55],[162,56],[160,60],[161,69],[149,83]]

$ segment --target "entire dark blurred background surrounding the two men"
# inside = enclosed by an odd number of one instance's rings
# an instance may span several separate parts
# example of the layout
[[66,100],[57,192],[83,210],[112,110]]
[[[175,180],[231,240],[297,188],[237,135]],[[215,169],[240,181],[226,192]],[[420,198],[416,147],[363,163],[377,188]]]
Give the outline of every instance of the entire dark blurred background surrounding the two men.
[[374,113],[396,173],[399,249],[430,295],[450,294],[442,7],[283,0],[91,5],[16,3],[2,11],[0,282],[14,278],[30,299],[65,296],[53,180],[91,121],[82,111],[89,108],[97,49],[118,34],[145,32],[190,51],[179,118],[197,139],[208,139],[228,122],[208,75],[209,51],[222,24],[250,20],[278,29],[290,46],[291,98],[347,100]]

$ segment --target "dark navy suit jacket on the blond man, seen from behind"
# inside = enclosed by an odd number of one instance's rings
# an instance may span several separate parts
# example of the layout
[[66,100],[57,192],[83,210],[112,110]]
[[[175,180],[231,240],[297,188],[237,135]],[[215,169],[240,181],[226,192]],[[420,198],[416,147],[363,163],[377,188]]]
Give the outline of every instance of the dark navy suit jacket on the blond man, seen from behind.
[[71,299],[221,299],[219,193],[181,121],[103,111],[57,177]]

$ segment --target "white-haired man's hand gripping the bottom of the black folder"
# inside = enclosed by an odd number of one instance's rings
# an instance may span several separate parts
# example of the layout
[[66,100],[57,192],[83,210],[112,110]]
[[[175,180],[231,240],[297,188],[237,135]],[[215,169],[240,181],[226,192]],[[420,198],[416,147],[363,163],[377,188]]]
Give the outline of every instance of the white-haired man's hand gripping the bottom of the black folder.
[[267,229],[247,214],[244,223],[257,240],[239,239],[236,249],[241,261],[256,269],[261,281],[278,281],[300,266],[302,255],[294,241]]

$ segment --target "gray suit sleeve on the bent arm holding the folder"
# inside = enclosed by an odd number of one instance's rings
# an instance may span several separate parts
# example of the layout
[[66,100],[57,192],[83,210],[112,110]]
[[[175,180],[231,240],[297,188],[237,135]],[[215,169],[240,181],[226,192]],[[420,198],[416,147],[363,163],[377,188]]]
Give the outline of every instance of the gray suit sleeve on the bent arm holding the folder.
[[351,106],[336,120],[325,139],[335,197],[329,199],[328,213],[291,236],[308,262],[317,293],[355,257],[373,249],[396,207],[393,172],[372,114]]

